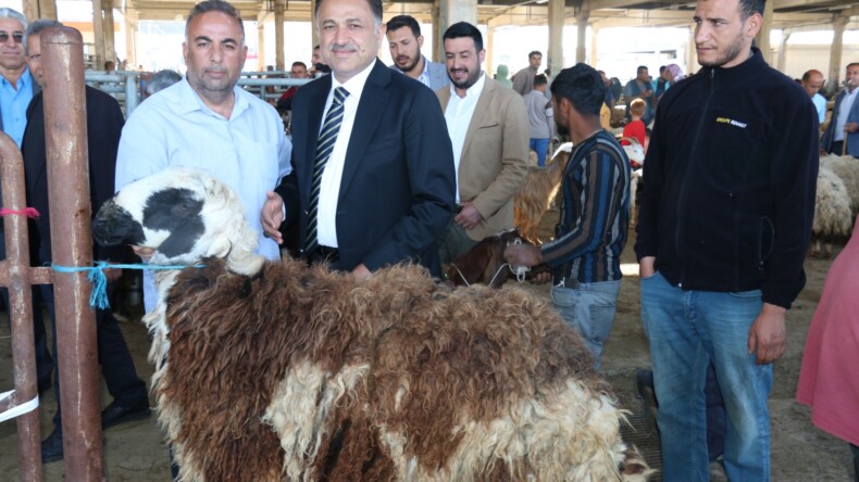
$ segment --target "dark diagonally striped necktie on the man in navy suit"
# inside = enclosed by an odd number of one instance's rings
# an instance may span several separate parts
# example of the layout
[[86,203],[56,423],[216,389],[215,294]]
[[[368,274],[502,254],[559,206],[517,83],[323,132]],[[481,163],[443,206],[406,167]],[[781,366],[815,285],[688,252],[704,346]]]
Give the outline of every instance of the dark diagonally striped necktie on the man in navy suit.
[[304,253],[312,254],[319,246],[316,236],[316,215],[319,214],[320,185],[322,183],[322,173],[325,172],[325,164],[334,151],[334,143],[337,140],[337,132],[340,131],[343,122],[343,103],[349,97],[349,91],[343,87],[334,89],[334,102],[325,115],[325,123],[322,124],[319,141],[316,142],[316,160],[313,163],[313,182],[310,189],[310,208],[308,210],[308,233],[304,238]]

